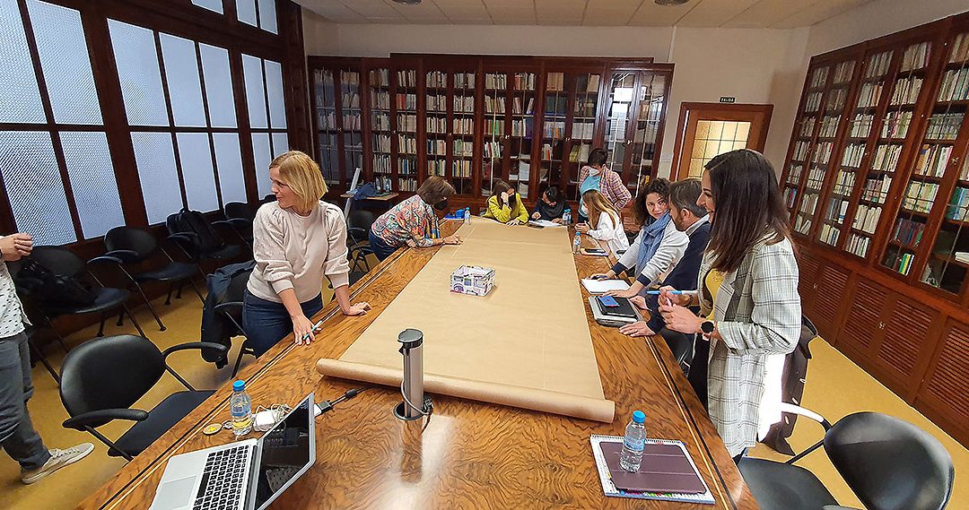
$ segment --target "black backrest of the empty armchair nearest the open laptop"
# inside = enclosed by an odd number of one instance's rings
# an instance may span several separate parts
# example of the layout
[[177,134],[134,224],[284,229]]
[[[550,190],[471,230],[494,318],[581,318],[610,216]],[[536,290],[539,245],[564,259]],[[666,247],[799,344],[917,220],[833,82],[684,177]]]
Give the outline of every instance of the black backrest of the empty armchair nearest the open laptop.
[[71,349],[61,366],[61,401],[68,414],[127,408],[165,373],[165,357],[134,335],[96,338]]

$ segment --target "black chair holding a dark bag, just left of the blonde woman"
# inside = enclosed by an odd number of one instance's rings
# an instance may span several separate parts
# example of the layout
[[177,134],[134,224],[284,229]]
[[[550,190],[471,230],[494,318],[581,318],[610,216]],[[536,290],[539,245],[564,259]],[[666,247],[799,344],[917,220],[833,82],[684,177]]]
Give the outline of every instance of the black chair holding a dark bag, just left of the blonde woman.
[[203,278],[205,277],[205,271],[202,269],[204,260],[232,260],[241,253],[239,245],[226,243],[215,230],[215,227],[219,226],[224,231],[234,232],[229,222],[209,222],[202,213],[183,209],[170,215],[165,225],[172,234],[171,239],[179,243],[185,254],[195,262]]

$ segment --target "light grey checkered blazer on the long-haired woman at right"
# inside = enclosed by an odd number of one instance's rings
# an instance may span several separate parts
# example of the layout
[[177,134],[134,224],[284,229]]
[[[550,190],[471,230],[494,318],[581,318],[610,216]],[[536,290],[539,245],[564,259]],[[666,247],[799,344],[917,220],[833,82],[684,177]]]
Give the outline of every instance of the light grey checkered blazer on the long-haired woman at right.
[[724,275],[716,304],[704,281],[713,257],[700,267],[701,315],[713,309],[723,342],[711,345],[707,371],[710,420],[731,456],[757,443],[767,354],[787,354],[800,337],[797,259],[789,239],[768,245],[762,240],[740,267]]

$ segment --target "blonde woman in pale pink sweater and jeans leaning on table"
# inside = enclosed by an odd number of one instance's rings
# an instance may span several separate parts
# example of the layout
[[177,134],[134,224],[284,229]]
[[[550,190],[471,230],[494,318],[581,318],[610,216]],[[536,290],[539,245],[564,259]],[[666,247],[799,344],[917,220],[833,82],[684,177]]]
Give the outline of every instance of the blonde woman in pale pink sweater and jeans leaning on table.
[[287,152],[269,164],[276,201],[253,221],[256,268],[242,298],[242,328],[260,356],[291,331],[297,345],[313,341],[308,317],[323,309],[320,288],[329,279],[344,315],[361,315],[350,303],[347,223],[339,207],[323,201],[327,183],[309,156]]

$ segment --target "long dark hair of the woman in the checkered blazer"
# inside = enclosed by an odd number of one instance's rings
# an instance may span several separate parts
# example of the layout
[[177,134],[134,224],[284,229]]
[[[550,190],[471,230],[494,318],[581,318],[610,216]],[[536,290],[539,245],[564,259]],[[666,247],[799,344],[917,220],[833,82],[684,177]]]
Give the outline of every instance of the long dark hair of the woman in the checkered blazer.
[[704,165],[716,211],[710,227],[712,267],[736,271],[744,255],[761,239],[776,244],[791,236],[787,210],[773,166],[763,154],[738,149]]

